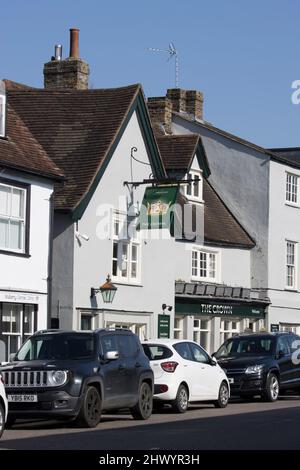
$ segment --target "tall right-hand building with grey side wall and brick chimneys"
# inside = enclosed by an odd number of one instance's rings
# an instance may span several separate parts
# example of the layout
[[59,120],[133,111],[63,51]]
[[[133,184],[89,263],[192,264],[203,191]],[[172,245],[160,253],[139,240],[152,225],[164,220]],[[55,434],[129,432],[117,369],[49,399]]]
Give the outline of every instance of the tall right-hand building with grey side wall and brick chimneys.
[[255,241],[250,286],[270,298],[266,327],[300,333],[299,150],[264,149],[205,122],[200,92],[153,100],[165,133],[201,136],[211,186]]

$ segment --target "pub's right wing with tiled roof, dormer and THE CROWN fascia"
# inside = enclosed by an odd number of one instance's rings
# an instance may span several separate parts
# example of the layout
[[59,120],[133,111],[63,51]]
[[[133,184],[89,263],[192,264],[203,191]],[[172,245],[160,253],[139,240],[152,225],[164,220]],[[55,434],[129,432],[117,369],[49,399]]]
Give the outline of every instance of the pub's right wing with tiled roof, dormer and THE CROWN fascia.
[[[148,106],[155,121],[153,103]],[[233,334],[265,327],[267,292],[251,287],[255,243],[208,181],[200,136],[157,132],[157,142],[168,175],[191,179],[181,186],[182,204],[203,213],[197,236],[187,240],[187,230],[176,239],[174,337],[213,352]]]

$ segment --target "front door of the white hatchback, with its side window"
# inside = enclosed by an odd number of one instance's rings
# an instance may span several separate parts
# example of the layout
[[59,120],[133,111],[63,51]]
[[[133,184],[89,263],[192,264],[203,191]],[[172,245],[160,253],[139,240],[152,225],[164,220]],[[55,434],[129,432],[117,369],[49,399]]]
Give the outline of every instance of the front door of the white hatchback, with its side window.
[[[212,364],[209,355],[195,343],[188,343],[197,373],[194,376],[194,387],[201,400],[217,398],[220,386],[220,371]],[[196,369],[195,369],[196,370]]]

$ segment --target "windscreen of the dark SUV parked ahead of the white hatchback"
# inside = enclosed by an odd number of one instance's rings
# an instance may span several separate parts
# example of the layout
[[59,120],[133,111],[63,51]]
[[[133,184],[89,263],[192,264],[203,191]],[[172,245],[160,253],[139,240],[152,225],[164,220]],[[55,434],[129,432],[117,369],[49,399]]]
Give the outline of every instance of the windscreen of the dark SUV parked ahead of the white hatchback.
[[266,356],[274,351],[274,338],[251,337],[231,338],[227,340],[216,352],[216,359],[231,356],[260,355]]

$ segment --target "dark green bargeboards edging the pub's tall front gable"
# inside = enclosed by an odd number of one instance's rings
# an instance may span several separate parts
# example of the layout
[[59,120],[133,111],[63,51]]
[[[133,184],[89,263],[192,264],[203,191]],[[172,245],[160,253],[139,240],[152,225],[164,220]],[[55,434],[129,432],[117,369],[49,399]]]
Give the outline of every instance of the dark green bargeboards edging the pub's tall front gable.
[[83,216],[84,214],[84,211],[85,209],[87,208],[120,140],[121,140],[121,137],[123,136],[124,134],[124,131],[133,115],[133,113],[136,111],[137,113],[137,118],[138,118],[138,122],[140,124],[140,127],[141,127],[141,132],[142,132],[142,135],[143,135],[143,138],[144,138],[144,141],[145,141],[145,144],[146,144],[146,148],[147,148],[147,151],[148,151],[148,154],[149,154],[149,158],[150,160],[152,159],[152,163],[153,163],[153,166],[154,166],[154,169],[156,171],[156,174],[155,174],[155,177],[157,178],[163,178],[165,177],[165,170],[164,170],[164,167],[163,167],[163,164],[162,164],[162,161],[161,161],[161,158],[160,158],[160,154],[159,154],[159,151],[158,151],[158,148],[157,148],[157,144],[156,144],[156,141],[155,141],[155,138],[154,138],[154,134],[153,134],[153,130],[152,130],[152,127],[151,127],[151,123],[150,123],[150,119],[149,119],[149,115],[148,115],[148,112],[147,112],[147,108],[146,108],[146,103],[145,103],[145,99],[144,99],[144,96],[143,96],[143,93],[142,93],[142,90],[140,90],[136,96],[136,98],[134,99],[130,109],[128,110],[127,112],[127,115],[123,121],[123,124],[122,126],[120,127],[119,129],[119,132],[117,134],[117,136],[115,137],[110,149],[109,149],[109,152],[108,154],[106,155],[98,173],[96,174],[88,192],[85,194],[85,196],[83,197],[83,199],[81,199],[81,201],[79,202],[79,204],[72,210],[72,219],[74,221],[76,220],[79,220],[81,219],[81,217]]

